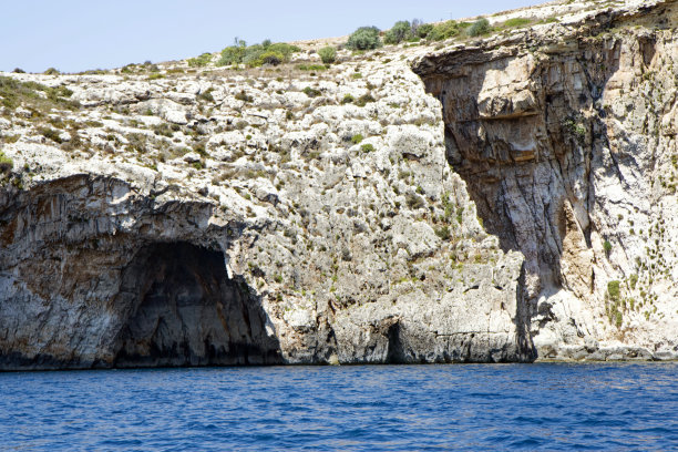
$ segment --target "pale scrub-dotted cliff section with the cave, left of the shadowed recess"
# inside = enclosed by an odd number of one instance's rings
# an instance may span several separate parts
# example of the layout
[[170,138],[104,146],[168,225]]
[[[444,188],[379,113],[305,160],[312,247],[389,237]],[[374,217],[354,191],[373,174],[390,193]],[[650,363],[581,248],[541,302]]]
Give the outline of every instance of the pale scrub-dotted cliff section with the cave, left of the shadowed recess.
[[81,106],[0,122],[2,369],[534,359],[523,257],[407,59],[17,78]]

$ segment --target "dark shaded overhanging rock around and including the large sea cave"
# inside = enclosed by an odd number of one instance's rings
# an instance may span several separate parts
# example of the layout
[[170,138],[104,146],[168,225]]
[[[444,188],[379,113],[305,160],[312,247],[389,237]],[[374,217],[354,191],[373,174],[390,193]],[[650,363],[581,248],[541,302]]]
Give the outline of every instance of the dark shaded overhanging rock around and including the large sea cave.
[[4,369],[281,362],[260,299],[226,275],[209,205],[88,175],[0,205]]

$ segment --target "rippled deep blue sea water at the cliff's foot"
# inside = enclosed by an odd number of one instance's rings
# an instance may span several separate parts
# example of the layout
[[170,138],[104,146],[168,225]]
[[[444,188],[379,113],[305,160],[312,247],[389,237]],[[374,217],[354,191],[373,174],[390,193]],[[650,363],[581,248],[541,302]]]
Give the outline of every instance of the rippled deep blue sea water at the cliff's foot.
[[0,450],[678,450],[678,363],[0,373]]

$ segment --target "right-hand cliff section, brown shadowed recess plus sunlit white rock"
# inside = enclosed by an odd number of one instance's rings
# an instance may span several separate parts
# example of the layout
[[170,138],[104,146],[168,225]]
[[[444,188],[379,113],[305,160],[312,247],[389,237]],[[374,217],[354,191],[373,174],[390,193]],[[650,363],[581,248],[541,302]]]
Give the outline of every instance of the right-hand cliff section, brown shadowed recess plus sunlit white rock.
[[678,6],[422,59],[446,155],[525,256],[541,358],[676,357]]

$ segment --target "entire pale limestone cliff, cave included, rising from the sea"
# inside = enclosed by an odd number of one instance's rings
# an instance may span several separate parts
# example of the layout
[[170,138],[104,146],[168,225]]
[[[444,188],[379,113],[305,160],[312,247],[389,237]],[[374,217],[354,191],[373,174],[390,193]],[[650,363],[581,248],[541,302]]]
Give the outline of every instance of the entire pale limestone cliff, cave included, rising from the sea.
[[2,79],[0,367],[675,357],[676,7],[628,3]]

